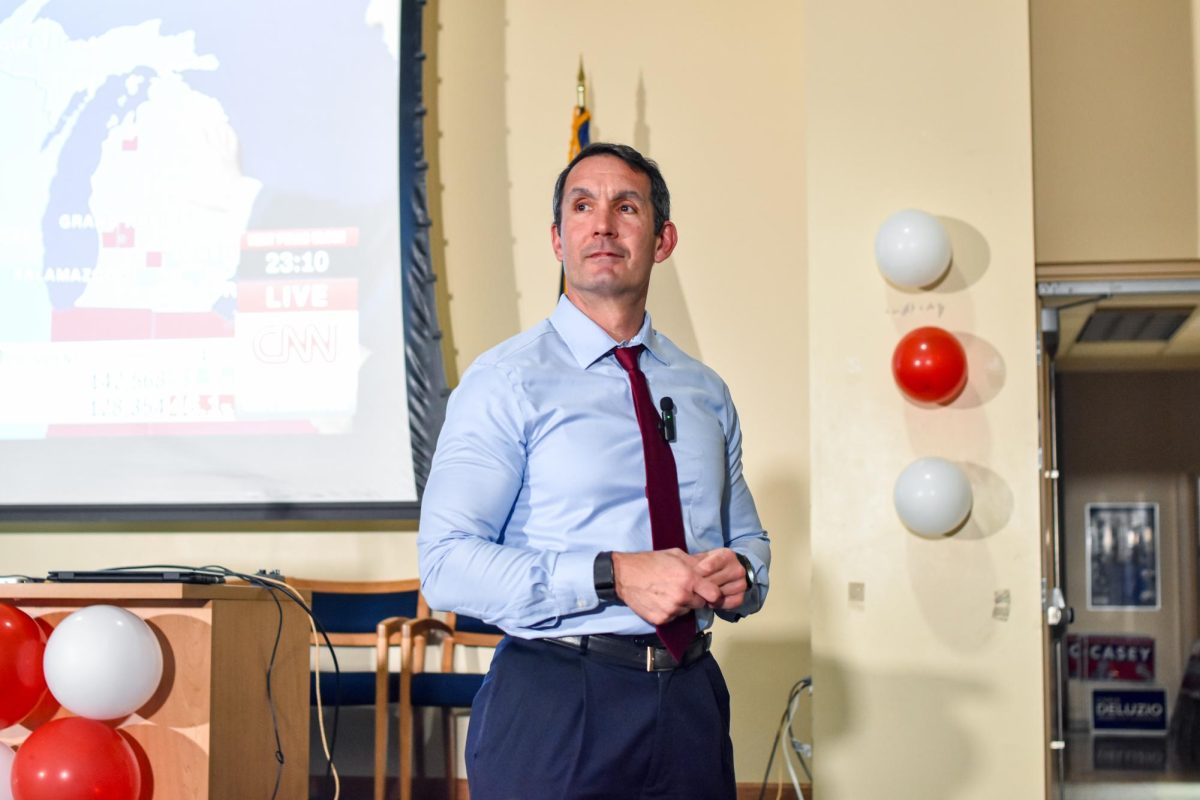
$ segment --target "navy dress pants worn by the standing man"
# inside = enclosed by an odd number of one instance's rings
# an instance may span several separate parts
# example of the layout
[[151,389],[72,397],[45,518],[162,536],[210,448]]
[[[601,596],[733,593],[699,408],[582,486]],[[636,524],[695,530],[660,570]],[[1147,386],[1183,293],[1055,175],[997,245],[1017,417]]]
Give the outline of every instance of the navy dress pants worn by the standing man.
[[505,637],[470,710],[472,800],[733,800],[730,694],[710,654],[650,673]]

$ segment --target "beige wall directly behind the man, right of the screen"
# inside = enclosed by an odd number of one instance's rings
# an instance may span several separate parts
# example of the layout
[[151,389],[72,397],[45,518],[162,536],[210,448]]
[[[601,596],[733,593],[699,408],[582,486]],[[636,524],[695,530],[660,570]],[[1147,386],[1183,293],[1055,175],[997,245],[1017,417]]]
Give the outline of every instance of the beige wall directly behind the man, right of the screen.
[[738,777],[758,781],[787,691],[810,670],[800,5],[430,8],[442,25],[436,125],[455,372],[557,301],[550,200],[581,55],[593,139],[637,146],[671,186],[679,247],[656,267],[649,309],[730,384],[774,541],[767,609],[720,624],[716,644]]

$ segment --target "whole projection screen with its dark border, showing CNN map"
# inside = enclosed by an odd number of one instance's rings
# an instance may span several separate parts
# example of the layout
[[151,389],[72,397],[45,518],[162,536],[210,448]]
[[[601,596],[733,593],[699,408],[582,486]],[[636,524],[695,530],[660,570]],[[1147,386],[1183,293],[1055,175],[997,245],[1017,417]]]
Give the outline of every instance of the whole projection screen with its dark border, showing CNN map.
[[0,0],[0,519],[415,516],[416,0]]

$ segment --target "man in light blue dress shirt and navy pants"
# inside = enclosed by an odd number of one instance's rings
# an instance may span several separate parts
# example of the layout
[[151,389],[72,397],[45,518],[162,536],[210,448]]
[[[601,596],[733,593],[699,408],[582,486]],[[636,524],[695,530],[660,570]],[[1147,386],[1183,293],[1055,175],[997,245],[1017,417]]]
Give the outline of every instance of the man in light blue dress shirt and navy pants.
[[[650,270],[677,237],[654,162],[584,149],[554,188],[566,295],[450,398],[422,498],[421,585],[433,608],[509,634],[472,710],[473,800],[736,792],[707,628],[762,606],[770,548],[728,389],[646,313]],[[642,433],[614,357],[638,345],[673,417],[686,549],[652,542]],[[655,627],[689,615],[696,636],[676,657]]]

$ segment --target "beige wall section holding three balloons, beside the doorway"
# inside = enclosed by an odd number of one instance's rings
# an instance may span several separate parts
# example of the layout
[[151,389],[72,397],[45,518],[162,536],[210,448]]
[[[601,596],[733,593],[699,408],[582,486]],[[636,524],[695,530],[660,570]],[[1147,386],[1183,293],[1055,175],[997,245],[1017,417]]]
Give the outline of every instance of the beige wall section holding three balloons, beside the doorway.
[[[810,0],[804,24],[815,786],[822,800],[1039,798],[1026,6]],[[912,206],[954,246],[929,291],[888,287],[874,263],[878,224]],[[971,383],[948,408],[892,383],[895,343],[923,324],[967,349]],[[919,539],[893,511],[919,456],[971,479],[953,537]]]

